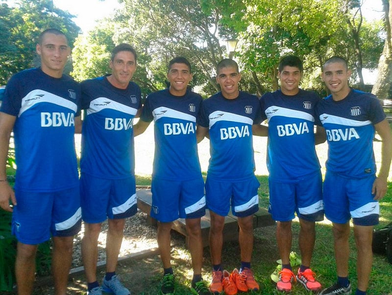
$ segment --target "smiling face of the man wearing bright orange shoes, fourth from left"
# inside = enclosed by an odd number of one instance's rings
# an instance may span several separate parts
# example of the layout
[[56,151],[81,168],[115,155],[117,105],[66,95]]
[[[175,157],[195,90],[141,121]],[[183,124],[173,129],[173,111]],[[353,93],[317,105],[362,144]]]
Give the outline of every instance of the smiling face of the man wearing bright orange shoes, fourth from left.
[[235,67],[221,68],[217,75],[217,83],[221,86],[222,96],[227,99],[237,98],[240,94],[238,83],[241,81],[241,74]]

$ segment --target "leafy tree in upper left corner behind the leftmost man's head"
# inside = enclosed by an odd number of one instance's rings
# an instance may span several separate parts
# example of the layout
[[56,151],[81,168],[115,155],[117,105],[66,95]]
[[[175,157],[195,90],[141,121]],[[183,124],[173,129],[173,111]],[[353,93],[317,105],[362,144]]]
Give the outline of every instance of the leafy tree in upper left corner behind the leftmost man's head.
[[52,0],[19,0],[15,7],[1,3],[0,84],[5,84],[12,74],[37,65],[35,43],[43,30],[62,30],[72,45],[80,30],[72,18],[55,7]]

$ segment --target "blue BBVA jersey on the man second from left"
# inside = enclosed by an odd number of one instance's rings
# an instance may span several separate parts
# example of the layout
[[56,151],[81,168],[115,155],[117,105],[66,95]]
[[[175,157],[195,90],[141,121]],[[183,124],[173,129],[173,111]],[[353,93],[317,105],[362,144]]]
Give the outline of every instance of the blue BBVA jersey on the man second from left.
[[141,108],[139,86],[129,82],[126,89],[119,89],[106,77],[98,77],[83,81],[81,88],[82,109],[87,109],[82,127],[81,172],[105,179],[133,175],[133,119]]

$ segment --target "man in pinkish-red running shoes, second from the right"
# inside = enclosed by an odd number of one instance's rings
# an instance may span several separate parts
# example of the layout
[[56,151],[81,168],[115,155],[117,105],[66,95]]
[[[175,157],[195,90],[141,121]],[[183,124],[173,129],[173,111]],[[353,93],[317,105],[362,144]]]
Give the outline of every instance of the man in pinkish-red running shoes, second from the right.
[[[321,288],[310,269],[316,239],[315,221],[324,217],[322,179],[313,131],[319,97],[299,88],[302,74],[302,61],[297,56],[283,57],[278,69],[280,89],[260,98],[262,119],[268,120],[269,211],[277,221],[276,242],[282,259],[276,289],[284,292],[291,291],[295,280],[290,265],[295,212],[300,223],[298,242],[302,258],[296,278],[307,290]],[[253,134],[267,135],[263,130],[262,125],[257,125]],[[316,144],[325,141],[322,131],[317,127]]]

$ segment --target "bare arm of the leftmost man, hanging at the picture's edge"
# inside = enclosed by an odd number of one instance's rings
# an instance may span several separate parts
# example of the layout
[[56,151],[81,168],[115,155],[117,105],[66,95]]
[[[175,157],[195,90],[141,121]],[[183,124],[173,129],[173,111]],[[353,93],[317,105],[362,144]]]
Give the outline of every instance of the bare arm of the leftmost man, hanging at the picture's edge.
[[0,112],[0,207],[12,212],[9,200],[16,205],[13,189],[7,181],[5,166],[8,157],[9,138],[14,127],[16,117]]

